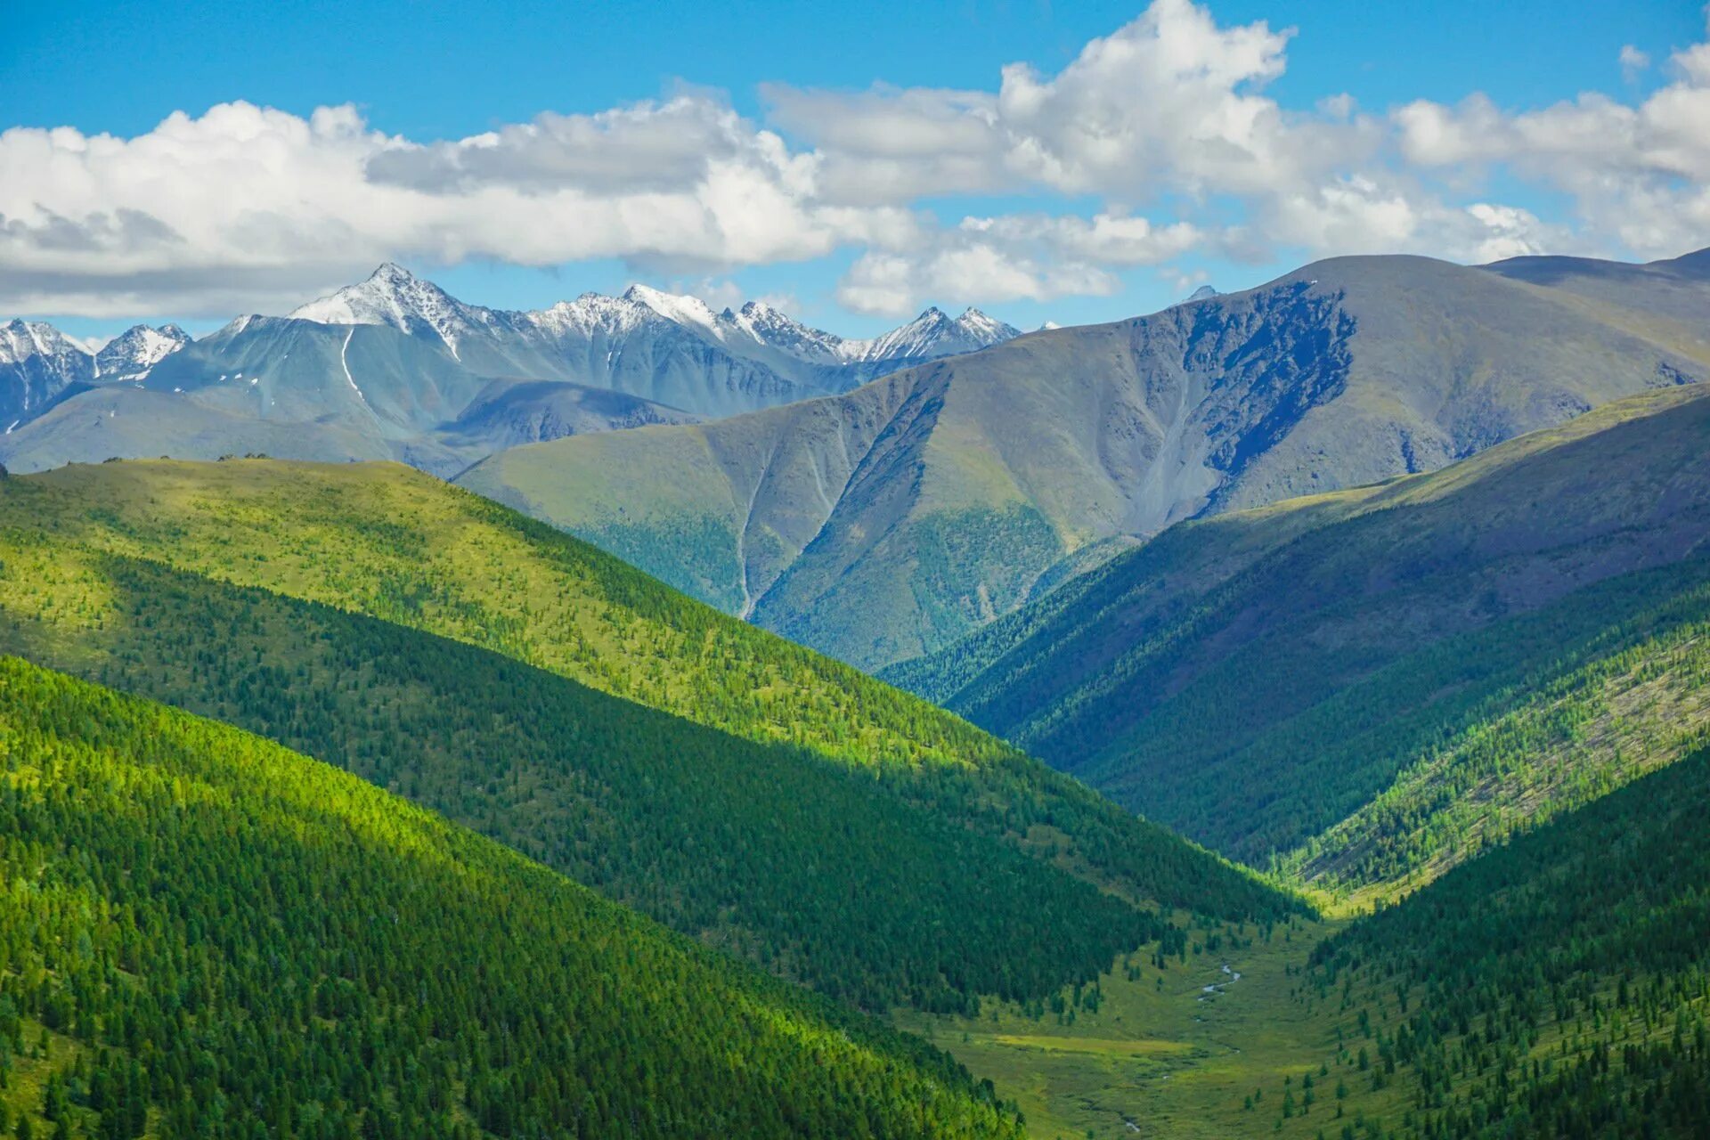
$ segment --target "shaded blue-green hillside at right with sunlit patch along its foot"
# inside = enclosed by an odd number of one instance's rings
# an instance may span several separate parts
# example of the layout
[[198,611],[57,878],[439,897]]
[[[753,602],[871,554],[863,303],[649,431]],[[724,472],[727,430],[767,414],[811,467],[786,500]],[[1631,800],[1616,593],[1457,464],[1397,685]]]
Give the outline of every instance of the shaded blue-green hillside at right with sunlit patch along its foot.
[[1710,393],[1176,526],[893,670],[1129,807],[1394,894],[1710,725]]

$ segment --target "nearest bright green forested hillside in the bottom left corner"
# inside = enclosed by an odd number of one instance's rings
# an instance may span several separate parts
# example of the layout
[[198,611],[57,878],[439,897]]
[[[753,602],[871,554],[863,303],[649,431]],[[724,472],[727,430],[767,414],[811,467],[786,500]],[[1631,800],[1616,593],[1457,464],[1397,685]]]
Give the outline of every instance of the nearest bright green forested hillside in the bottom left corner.
[[1019,1135],[877,1022],[347,774],[10,658],[0,870],[15,1137]]

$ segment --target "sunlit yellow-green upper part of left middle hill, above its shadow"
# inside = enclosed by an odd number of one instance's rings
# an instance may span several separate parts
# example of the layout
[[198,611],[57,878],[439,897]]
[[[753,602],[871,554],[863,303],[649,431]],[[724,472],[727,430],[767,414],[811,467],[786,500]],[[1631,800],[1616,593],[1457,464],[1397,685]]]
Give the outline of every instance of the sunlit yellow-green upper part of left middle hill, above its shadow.
[[852,762],[1007,749],[597,547],[390,463],[127,461],[14,479],[7,523],[371,614]]

